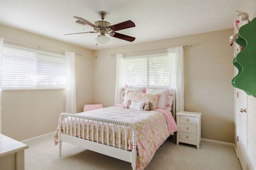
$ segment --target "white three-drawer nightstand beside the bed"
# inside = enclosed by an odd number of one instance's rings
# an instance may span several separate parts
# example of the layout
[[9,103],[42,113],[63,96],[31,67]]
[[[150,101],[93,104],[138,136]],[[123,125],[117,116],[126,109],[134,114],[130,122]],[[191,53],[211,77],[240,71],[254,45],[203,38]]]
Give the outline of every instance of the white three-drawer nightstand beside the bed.
[[202,113],[191,111],[179,111],[177,119],[177,145],[180,142],[196,145],[199,149],[201,143],[201,115]]

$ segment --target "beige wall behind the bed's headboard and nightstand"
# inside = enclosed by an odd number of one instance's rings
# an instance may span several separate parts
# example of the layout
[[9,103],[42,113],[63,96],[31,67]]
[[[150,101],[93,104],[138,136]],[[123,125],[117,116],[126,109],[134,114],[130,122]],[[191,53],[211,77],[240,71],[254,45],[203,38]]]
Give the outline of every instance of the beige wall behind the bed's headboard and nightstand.
[[95,51],[94,103],[114,105],[116,57],[111,54],[191,44],[184,48],[184,109],[202,112],[202,138],[234,143],[232,34],[225,29]]

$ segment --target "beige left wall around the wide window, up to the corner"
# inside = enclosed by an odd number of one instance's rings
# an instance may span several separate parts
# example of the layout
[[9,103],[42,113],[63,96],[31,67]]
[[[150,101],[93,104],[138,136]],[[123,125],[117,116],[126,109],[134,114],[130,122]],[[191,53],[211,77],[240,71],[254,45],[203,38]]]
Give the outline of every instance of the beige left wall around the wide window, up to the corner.
[[[0,30],[0,37],[81,54],[81,57],[79,55],[75,57],[77,111],[83,111],[84,104],[93,103],[92,50],[4,25],[0,25]],[[6,40],[4,43],[14,44]],[[25,44],[19,45],[27,47]],[[65,90],[3,91],[2,134],[22,141],[53,132],[58,125],[58,115],[65,110]]]

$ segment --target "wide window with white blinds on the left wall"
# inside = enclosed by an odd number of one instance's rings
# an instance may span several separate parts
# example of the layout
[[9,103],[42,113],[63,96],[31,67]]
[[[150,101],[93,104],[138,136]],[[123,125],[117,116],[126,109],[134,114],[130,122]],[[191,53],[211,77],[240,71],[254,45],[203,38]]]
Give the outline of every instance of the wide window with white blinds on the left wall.
[[2,89],[66,87],[64,55],[4,45]]

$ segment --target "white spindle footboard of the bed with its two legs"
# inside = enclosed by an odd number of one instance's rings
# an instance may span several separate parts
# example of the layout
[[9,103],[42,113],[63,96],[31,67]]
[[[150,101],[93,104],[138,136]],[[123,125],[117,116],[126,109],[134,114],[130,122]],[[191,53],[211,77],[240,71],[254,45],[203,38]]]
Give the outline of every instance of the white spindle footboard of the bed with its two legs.
[[[132,150],[129,149],[128,129],[132,129]],[[60,156],[62,141],[130,162],[136,169],[136,133],[128,122],[61,113],[58,122]]]

